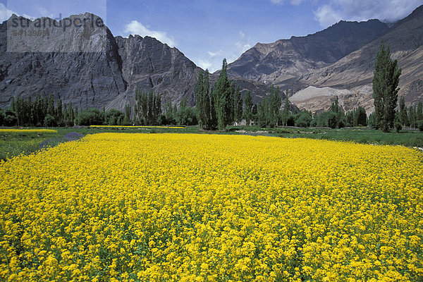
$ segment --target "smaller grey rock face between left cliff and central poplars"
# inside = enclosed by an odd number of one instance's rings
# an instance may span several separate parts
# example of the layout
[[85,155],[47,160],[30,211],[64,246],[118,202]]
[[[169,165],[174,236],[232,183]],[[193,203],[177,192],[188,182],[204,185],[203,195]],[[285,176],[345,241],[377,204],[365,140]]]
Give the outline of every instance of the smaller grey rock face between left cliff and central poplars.
[[154,90],[161,94],[163,101],[175,103],[187,97],[189,104],[195,103],[195,85],[201,68],[182,52],[152,37],[130,35],[128,38],[118,36],[115,39],[128,90],[119,94],[109,107],[122,109],[127,103],[133,104],[136,88]]

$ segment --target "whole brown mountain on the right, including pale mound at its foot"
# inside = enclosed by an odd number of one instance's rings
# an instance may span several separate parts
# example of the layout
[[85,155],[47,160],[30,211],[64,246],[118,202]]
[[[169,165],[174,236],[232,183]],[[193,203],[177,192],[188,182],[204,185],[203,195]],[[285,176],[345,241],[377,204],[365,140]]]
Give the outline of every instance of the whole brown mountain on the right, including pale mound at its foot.
[[403,70],[399,94],[407,105],[422,101],[423,6],[393,25],[341,21],[314,35],[256,44],[228,66],[228,73],[291,89],[290,102],[300,109],[326,110],[338,97],[345,111],[364,106],[370,114],[381,42]]

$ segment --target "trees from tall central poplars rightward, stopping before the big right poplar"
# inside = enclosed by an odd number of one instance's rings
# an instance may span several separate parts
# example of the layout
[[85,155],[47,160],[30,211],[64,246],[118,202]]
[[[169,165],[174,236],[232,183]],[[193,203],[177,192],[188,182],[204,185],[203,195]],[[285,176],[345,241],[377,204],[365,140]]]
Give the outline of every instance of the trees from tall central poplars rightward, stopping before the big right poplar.
[[309,111],[299,111],[290,106],[289,90],[286,90],[283,97],[279,87],[271,85],[269,95],[255,104],[249,91],[241,97],[240,87],[228,80],[226,60],[223,60],[222,71],[213,87],[209,83],[209,71],[200,72],[195,94],[197,120],[205,130],[224,130],[226,125],[240,123],[242,120],[246,125],[254,123],[260,127],[367,126],[365,109],[359,106],[345,114],[338,104],[338,97],[329,111],[313,116]]

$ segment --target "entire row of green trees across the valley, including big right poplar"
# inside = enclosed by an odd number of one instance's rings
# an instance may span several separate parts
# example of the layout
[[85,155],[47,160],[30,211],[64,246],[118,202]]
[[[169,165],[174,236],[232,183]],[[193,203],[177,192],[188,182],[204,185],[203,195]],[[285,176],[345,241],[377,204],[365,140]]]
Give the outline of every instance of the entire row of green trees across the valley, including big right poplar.
[[[162,106],[161,95],[153,91],[135,90],[135,105],[125,106],[124,111],[109,109],[84,109],[71,103],[63,104],[61,99],[37,96],[34,101],[12,98],[11,106],[0,109],[0,125],[7,126],[73,126],[73,125],[200,125],[204,130],[225,130],[227,125],[237,123],[261,127],[278,125],[298,127],[343,128],[371,126],[387,132],[391,128],[404,127],[423,130],[423,105],[405,106],[404,97],[398,102],[398,81],[401,70],[397,61],[390,58],[389,47],[378,52],[374,70],[375,111],[367,118],[362,106],[345,113],[336,101],[329,111],[312,115],[290,106],[289,90],[281,93],[273,85],[269,95],[255,104],[249,91],[242,95],[240,87],[228,79],[228,63],[223,59],[219,78],[213,86],[209,82],[209,71],[200,71],[195,87],[195,107],[188,106],[185,96],[179,104],[166,102]],[[284,99],[283,99],[284,98]],[[282,106],[283,104],[283,106]]]

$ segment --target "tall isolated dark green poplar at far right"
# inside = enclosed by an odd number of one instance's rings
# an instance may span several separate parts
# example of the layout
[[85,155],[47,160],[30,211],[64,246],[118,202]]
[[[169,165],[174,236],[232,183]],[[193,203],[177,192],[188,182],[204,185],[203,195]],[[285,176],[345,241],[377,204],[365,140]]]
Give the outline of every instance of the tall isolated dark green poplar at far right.
[[391,59],[389,47],[382,42],[374,63],[373,98],[376,123],[383,132],[393,127],[398,102],[398,82],[401,69],[398,62]]

